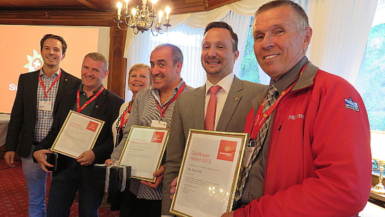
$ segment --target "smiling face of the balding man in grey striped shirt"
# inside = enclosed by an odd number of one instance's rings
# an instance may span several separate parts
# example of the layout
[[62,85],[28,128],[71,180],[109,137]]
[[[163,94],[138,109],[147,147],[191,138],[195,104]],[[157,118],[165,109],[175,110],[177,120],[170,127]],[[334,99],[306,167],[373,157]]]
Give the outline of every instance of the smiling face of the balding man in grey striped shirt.
[[151,52],[150,65],[153,76],[153,87],[160,92],[171,92],[180,83],[182,61],[175,65],[172,61],[172,50],[169,47],[158,48]]

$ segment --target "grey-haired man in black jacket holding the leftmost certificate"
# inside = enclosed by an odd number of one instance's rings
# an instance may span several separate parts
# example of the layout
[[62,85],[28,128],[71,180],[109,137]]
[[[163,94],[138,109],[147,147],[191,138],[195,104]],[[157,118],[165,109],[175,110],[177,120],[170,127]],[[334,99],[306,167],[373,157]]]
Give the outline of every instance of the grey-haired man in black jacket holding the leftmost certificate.
[[95,145],[92,149],[82,152],[77,158],[59,154],[57,171],[53,172],[50,185],[47,216],[69,216],[75,194],[79,191],[79,216],[97,216],[103,192],[91,187],[93,164],[104,163],[113,151],[113,135],[111,125],[118,117],[120,105],[123,103],[118,95],[106,90],[102,84],[109,74],[108,61],[97,52],[84,57],[82,65],[83,84],[78,90],[64,95],[59,104],[52,130],[35,148],[33,156],[41,168],[53,167],[46,161],[46,154],[51,151],[59,130],[64,125],[68,112],[75,110],[86,116],[104,121]]

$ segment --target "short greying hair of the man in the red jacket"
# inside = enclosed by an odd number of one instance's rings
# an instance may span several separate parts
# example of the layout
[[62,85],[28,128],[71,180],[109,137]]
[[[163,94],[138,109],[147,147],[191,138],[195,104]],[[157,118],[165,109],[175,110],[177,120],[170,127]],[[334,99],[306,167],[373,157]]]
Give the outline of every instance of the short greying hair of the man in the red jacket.
[[303,8],[299,4],[295,3],[294,1],[290,1],[290,0],[274,0],[274,1],[270,1],[270,2],[265,3],[258,10],[256,10],[256,12],[254,14],[254,21],[255,21],[255,17],[258,16],[259,14],[261,14],[262,12],[265,12],[267,10],[271,10],[273,8],[279,8],[281,6],[288,6],[288,7],[292,8],[294,13],[297,15],[294,19],[297,19],[298,30],[300,32],[306,30],[306,28],[308,28],[310,26],[309,25],[309,18],[308,18],[308,15],[306,14],[305,10],[303,10]]

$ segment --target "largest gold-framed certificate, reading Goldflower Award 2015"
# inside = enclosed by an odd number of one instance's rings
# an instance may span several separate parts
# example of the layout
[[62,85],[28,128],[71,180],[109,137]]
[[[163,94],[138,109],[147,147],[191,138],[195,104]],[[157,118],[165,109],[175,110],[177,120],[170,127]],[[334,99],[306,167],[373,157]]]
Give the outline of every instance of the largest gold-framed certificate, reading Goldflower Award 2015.
[[217,217],[232,208],[248,136],[190,130],[170,213]]

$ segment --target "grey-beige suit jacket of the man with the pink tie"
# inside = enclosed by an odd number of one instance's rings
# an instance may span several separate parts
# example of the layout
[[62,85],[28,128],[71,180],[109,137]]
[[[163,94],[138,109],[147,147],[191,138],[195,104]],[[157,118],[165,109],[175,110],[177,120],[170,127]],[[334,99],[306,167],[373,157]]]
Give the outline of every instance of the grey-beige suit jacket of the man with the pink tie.
[[[221,132],[243,132],[245,117],[252,108],[252,99],[267,90],[267,86],[243,81],[234,76],[227,100],[216,127]],[[171,207],[171,182],[178,176],[185,143],[190,129],[205,130],[206,87],[181,94],[173,110],[169,141],[167,142],[166,172],[163,183],[162,214]]]

